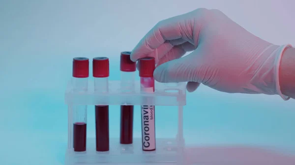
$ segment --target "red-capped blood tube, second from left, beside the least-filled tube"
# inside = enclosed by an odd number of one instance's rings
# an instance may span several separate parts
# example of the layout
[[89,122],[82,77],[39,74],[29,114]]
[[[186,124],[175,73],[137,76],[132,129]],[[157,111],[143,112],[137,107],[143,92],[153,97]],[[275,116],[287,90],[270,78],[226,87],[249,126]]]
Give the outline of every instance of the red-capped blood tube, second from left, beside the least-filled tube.
[[[106,93],[109,91],[109,58],[95,57],[92,61],[94,91]],[[109,151],[109,105],[95,105],[96,151]]]

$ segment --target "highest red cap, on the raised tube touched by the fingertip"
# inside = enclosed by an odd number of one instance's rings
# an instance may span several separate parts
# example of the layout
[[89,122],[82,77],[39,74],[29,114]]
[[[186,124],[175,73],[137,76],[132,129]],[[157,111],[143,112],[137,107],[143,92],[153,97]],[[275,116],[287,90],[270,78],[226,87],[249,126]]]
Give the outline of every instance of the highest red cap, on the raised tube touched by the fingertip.
[[130,60],[131,51],[121,52],[120,71],[136,71],[136,62]]

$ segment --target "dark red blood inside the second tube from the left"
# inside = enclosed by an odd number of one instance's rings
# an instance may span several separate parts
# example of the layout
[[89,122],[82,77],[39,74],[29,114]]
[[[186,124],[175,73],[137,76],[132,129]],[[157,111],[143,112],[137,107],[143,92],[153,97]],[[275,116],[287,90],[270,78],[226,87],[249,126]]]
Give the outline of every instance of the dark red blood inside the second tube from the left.
[[109,106],[95,106],[96,151],[110,150]]

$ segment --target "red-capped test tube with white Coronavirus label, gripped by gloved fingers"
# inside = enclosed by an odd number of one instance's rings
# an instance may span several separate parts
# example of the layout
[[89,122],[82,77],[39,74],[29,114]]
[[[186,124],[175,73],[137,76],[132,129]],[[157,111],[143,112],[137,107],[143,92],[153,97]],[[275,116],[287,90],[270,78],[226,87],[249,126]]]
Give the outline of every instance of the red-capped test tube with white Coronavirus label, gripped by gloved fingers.
[[[141,91],[145,93],[153,93],[155,90],[155,81],[153,71],[155,70],[155,59],[146,57],[139,59],[139,76],[141,83]],[[156,150],[155,136],[155,106],[142,105],[142,147],[143,151]]]

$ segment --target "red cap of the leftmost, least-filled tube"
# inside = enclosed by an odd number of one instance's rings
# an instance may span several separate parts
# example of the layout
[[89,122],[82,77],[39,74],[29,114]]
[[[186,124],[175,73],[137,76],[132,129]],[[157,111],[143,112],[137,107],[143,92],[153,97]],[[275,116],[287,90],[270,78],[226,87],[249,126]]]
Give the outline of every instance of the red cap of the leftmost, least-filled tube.
[[86,57],[73,58],[73,77],[89,77],[89,59]]

